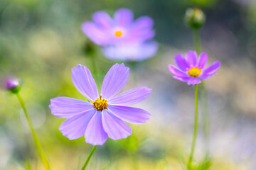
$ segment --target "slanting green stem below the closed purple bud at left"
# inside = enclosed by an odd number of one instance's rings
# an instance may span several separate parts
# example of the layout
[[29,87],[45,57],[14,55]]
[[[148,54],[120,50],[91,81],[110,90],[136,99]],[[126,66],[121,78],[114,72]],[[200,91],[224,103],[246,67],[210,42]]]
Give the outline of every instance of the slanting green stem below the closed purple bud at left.
[[26,110],[26,106],[25,106],[25,103],[21,97],[21,94],[19,94],[19,92],[16,94],[17,98],[18,98],[18,101],[21,103],[21,107],[23,108],[23,111],[26,115],[26,119],[28,120],[28,125],[29,125],[29,128],[31,129],[31,133],[32,133],[32,136],[33,136],[33,140],[35,142],[35,145],[36,145],[36,148],[38,149],[38,154],[39,156],[41,157],[41,160],[43,162],[43,165],[45,166],[46,170],[49,170],[50,169],[50,165],[47,161],[47,157],[46,157],[46,154],[43,152],[43,149],[42,149],[42,146],[41,146],[41,143],[38,139],[38,136],[36,135],[36,131],[34,130],[33,128],[33,125],[32,125],[32,122],[31,122],[31,119],[29,118],[28,116],[28,111]]

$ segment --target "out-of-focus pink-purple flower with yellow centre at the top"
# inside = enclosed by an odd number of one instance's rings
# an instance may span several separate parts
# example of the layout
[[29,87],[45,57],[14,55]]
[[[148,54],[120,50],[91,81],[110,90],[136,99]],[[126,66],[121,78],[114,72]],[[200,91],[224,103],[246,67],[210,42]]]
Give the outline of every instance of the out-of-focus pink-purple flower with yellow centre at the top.
[[153,20],[142,16],[133,21],[133,13],[127,8],[117,10],[113,18],[97,11],[92,20],[82,23],[82,31],[97,45],[144,42],[154,37]]

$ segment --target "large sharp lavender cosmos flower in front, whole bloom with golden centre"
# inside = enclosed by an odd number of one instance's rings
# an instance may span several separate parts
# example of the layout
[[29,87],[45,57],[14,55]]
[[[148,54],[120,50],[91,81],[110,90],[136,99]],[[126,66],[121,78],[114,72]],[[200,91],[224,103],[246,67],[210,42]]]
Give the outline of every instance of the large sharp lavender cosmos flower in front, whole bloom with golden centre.
[[68,97],[50,99],[51,113],[58,118],[67,118],[59,128],[63,135],[70,140],[85,135],[85,142],[103,145],[107,137],[119,140],[132,134],[132,129],[124,121],[145,123],[150,118],[150,113],[128,105],[143,101],[150,95],[151,89],[142,86],[117,94],[128,77],[128,67],[114,64],[103,80],[99,96],[89,69],[80,64],[73,68],[73,84],[92,103]]

